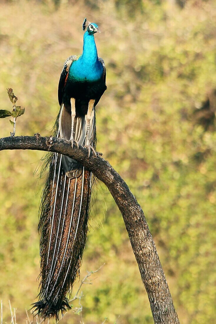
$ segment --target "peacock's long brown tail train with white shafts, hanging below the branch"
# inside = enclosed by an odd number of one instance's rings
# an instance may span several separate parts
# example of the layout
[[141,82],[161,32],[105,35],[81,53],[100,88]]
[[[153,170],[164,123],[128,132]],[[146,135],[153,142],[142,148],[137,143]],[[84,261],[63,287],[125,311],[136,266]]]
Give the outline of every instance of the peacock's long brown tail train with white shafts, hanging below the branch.
[[[95,146],[96,133],[92,132]],[[56,134],[59,136],[59,132]],[[68,177],[63,158],[61,154],[50,154],[40,206],[41,281],[33,312],[43,318],[58,319],[59,313],[70,309],[69,293],[79,276],[88,232],[92,174],[79,166],[80,175]]]

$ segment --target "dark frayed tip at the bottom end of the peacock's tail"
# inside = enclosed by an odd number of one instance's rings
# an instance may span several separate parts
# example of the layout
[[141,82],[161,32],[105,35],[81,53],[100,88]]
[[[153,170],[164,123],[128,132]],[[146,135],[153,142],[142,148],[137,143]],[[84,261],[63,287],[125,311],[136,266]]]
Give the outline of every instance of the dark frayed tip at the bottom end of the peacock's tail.
[[44,319],[54,317],[56,320],[59,320],[59,314],[63,316],[67,310],[71,309],[68,300],[58,305],[42,299],[32,305],[31,310],[33,315],[36,313],[36,315]]

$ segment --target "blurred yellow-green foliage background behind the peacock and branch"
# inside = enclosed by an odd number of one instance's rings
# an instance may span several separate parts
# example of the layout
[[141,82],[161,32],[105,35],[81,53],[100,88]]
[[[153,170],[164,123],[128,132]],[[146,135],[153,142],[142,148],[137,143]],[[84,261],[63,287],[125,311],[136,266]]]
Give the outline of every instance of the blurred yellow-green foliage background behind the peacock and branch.
[[[16,135],[50,135],[64,61],[82,51],[84,18],[98,23],[107,91],[97,149],[142,206],[181,323],[215,322],[216,3],[213,0],[0,2],[0,109],[6,88],[26,108]],[[8,136],[9,119],[0,120]],[[0,299],[26,323],[38,293],[42,152],[0,152]],[[33,175],[34,174],[34,175]],[[94,192],[80,278],[82,318],[65,324],[152,324],[126,229],[102,183]],[[74,287],[74,293],[80,282]]]

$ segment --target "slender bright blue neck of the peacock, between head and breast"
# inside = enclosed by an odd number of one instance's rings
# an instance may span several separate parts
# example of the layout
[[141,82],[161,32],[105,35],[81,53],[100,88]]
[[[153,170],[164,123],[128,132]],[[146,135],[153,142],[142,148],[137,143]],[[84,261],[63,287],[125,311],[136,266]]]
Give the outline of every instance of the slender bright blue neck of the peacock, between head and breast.
[[85,32],[83,36],[83,52],[80,59],[92,63],[98,60],[97,47],[94,41],[94,35],[89,34],[88,31]]

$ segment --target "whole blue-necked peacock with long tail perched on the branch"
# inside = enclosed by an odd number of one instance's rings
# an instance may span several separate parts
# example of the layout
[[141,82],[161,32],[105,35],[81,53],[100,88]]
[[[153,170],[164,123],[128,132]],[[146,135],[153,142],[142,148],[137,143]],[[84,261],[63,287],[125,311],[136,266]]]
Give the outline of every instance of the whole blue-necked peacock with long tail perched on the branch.
[[[72,147],[86,147],[90,156],[96,154],[95,106],[106,90],[106,68],[94,40],[94,34],[100,33],[98,26],[85,18],[83,30],[82,54],[68,57],[60,75],[60,111],[54,136],[69,140]],[[58,319],[70,309],[69,296],[79,276],[93,176],[78,161],[62,154],[50,154],[46,166],[38,225],[40,293],[33,312]]]

